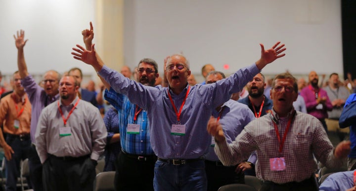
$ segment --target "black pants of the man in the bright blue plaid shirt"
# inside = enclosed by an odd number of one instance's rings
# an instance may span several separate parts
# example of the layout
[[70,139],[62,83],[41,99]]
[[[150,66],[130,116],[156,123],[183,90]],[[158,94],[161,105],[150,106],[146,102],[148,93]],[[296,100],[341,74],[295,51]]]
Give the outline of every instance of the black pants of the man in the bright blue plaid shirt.
[[116,158],[116,191],[153,191],[154,166],[157,157],[138,157],[120,152]]

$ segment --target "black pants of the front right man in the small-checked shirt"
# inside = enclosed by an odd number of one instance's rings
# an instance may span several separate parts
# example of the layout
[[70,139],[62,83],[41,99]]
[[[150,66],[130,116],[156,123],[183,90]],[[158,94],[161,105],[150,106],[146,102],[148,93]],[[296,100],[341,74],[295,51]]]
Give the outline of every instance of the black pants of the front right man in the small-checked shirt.
[[306,179],[300,183],[290,182],[286,184],[275,184],[265,181],[260,191],[318,191],[316,179],[314,177]]

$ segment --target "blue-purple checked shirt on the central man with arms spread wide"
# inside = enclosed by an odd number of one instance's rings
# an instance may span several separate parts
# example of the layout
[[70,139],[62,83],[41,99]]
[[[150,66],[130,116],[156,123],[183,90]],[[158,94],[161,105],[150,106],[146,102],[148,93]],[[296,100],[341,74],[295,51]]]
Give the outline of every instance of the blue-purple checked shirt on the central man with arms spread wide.
[[168,96],[172,96],[176,108],[180,108],[188,83],[179,94],[158,85],[145,86],[131,80],[106,66],[98,72],[117,92],[125,94],[132,103],[148,113],[151,145],[160,158],[198,158],[206,153],[211,144],[207,132],[208,120],[212,111],[230,99],[232,93],[240,91],[260,70],[256,64],[238,70],[235,74],[216,83],[197,84],[190,88],[180,115],[180,123],[185,125],[185,135],[172,135],[172,125],[177,123],[177,115]]

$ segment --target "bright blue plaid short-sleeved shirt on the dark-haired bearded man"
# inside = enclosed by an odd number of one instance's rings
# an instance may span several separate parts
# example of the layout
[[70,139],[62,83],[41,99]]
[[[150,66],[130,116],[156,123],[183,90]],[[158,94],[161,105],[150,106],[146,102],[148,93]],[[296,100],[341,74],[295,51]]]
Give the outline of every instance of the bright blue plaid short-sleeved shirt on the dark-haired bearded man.
[[121,147],[125,153],[138,155],[154,154],[150,143],[147,112],[142,110],[137,115],[136,123],[140,125],[139,134],[127,134],[127,126],[134,123],[136,105],[132,104],[127,96],[115,92],[114,89],[105,90],[107,100],[118,111]]

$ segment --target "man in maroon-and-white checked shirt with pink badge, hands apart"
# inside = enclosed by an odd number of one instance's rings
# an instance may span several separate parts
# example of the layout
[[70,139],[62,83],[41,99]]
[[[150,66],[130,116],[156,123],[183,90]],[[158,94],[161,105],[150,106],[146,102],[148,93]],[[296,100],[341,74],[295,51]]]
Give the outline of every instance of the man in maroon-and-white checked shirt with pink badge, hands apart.
[[232,144],[212,117],[208,132],[215,137],[215,152],[224,165],[234,165],[256,151],[257,178],[264,181],[260,191],[317,191],[313,156],[328,168],[340,166],[351,142],[334,149],[320,121],[294,109],[298,86],[289,73],[275,76],[270,97],[271,113],[246,125]]

